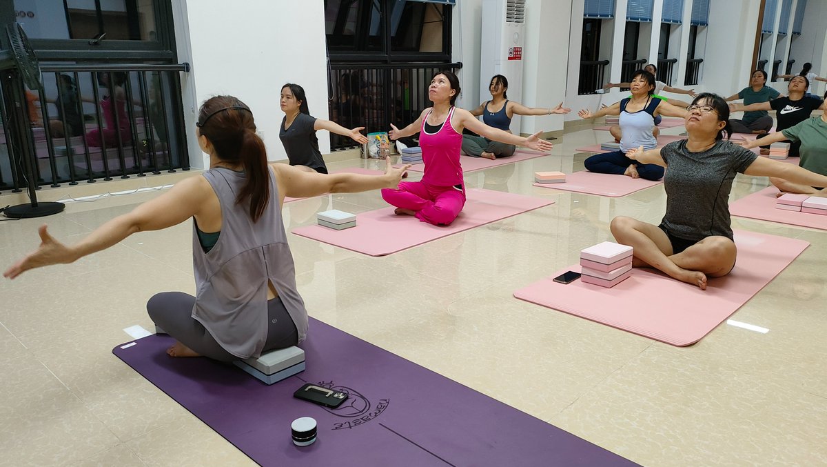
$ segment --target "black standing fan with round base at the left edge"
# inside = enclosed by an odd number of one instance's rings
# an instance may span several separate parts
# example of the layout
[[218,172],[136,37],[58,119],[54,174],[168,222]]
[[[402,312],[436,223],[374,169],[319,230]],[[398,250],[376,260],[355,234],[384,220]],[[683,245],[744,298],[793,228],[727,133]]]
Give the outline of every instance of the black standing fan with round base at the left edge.
[[43,83],[41,81],[41,66],[37,63],[37,57],[31,50],[29,40],[23,28],[13,23],[7,25],[9,46],[12,52],[11,64],[13,68],[2,70],[2,89],[5,101],[11,104],[8,108],[9,126],[12,145],[15,147],[11,153],[17,155],[23,162],[23,173],[26,176],[29,200],[31,203],[6,208],[3,214],[6,217],[20,219],[31,217],[42,217],[57,214],[65,207],[63,203],[38,202],[36,195],[37,181],[34,166],[37,163],[34,144],[31,141],[26,112],[26,99],[23,84],[29,89],[37,90],[43,95]]

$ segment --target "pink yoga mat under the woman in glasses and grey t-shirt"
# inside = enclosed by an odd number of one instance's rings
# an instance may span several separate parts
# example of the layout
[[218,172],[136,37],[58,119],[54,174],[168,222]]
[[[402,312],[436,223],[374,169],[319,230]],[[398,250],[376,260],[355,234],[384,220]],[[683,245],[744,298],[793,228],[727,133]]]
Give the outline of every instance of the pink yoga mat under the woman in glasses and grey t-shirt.
[[[827,216],[825,216],[827,217]],[[682,347],[695,344],[782,272],[810,243],[766,233],[735,231],[738,262],[724,277],[711,278],[705,291],[653,269],[607,289],[582,281],[560,284],[565,267],[514,296],[587,320]]]

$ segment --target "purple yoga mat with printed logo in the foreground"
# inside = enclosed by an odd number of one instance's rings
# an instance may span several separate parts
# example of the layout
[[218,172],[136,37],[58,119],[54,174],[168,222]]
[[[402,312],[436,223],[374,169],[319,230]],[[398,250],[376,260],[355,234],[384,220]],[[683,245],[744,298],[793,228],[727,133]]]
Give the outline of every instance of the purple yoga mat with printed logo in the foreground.
[[[636,465],[312,318],[307,369],[272,386],[232,365],[170,358],[166,335],[133,342],[112,353],[261,465]],[[351,396],[336,410],[295,399],[305,382]],[[290,438],[300,416],[318,421],[304,448]]]

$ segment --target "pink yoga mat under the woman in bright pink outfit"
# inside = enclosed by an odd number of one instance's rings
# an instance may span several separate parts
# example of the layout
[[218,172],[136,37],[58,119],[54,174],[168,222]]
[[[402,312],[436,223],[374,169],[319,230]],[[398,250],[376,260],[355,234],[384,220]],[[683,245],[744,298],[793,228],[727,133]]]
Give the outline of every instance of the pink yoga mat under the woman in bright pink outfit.
[[384,256],[447,237],[554,203],[530,196],[471,188],[466,205],[451,225],[431,225],[408,215],[394,214],[394,207],[356,214],[356,227],[344,230],[308,225],[293,233],[370,256]]

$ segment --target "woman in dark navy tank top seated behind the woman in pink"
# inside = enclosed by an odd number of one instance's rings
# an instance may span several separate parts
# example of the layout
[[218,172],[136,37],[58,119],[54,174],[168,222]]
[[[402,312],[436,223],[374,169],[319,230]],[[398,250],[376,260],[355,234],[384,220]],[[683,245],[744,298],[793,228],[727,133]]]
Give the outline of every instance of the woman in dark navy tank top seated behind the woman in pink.
[[[491,78],[488,90],[491,93],[491,100],[480,104],[480,107],[471,110],[471,115],[482,117],[483,123],[489,127],[499,128],[504,132],[511,132],[511,118],[514,115],[551,115],[552,113],[569,113],[571,108],[563,108],[563,104],[557,104],[555,108],[526,107],[519,102],[509,100],[507,91],[509,80],[503,75],[495,75]],[[504,142],[491,141],[486,137],[474,135],[462,135],[462,152],[467,156],[485,157],[496,159],[497,157],[508,157],[514,155],[516,146]]]

